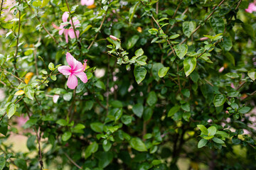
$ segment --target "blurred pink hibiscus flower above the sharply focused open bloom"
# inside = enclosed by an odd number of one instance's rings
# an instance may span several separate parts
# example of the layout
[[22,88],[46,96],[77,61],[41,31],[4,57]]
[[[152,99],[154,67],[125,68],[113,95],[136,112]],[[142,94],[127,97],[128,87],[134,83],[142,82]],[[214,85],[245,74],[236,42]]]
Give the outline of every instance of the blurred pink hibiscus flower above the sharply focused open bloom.
[[[68,16],[69,16],[68,12],[63,13],[63,17],[62,17],[63,18],[63,23],[68,22]],[[59,35],[62,35],[64,33],[65,40],[66,40],[67,43],[68,43],[68,35],[72,39],[72,38],[75,38],[75,34],[77,35],[77,37],[79,37],[79,34],[80,34],[79,30],[75,30],[75,33],[74,33],[73,26],[72,26],[72,21],[70,20],[69,22],[71,24],[71,27],[68,28],[68,29],[64,28],[65,26],[68,26],[68,24],[63,24],[63,25],[60,25],[58,27],[53,23],[53,27],[55,29],[59,30]],[[73,17],[73,22],[74,22],[75,28],[77,28],[78,26],[76,26],[76,25],[78,25],[78,23],[80,23],[80,22],[78,21],[78,19],[76,17]]]

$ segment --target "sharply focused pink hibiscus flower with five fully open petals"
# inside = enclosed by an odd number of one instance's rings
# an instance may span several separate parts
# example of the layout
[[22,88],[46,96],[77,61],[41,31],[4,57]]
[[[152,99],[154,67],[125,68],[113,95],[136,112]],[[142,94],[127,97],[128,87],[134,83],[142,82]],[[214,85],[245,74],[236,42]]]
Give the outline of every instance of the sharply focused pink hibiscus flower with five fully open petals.
[[86,61],[84,60],[84,64],[75,60],[75,58],[70,55],[69,52],[66,54],[66,60],[70,66],[60,66],[58,67],[58,71],[63,75],[67,75],[68,77],[68,88],[75,89],[78,86],[78,78],[83,82],[87,83],[87,76],[84,72],[86,68]]

